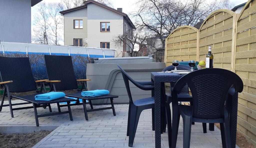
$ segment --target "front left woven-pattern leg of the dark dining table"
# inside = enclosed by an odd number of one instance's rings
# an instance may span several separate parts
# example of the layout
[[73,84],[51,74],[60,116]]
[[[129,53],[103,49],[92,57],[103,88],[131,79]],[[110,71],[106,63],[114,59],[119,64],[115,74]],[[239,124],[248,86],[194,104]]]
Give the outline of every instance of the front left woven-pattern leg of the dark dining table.
[[161,83],[155,85],[155,147],[161,147]]

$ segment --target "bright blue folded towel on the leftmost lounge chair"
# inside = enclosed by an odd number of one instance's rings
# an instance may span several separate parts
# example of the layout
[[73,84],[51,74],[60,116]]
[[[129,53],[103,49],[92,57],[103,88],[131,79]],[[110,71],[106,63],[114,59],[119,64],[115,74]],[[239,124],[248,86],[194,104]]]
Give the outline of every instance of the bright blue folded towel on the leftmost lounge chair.
[[35,100],[40,100],[40,101],[51,101],[55,99],[60,99],[64,98],[66,95],[63,92],[48,92],[48,93],[43,93],[40,95],[35,96]]

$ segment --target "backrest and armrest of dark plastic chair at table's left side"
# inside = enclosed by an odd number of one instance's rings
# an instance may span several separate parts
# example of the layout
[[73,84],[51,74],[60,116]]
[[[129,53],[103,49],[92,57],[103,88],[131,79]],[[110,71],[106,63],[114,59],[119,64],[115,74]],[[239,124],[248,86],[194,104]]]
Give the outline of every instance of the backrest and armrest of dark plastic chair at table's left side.
[[142,89],[142,90],[151,90],[151,87],[147,87],[147,86],[143,86],[138,84],[133,78],[131,78],[119,65],[117,65],[118,68],[121,70],[122,75],[123,75],[123,79],[124,79],[124,84],[129,96],[129,100],[131,103],[133,103],[132,101],[132,94],[131,94],[131,90],[130,90],[130,85],[129,85],[129,81],[131,81],[136,87]]

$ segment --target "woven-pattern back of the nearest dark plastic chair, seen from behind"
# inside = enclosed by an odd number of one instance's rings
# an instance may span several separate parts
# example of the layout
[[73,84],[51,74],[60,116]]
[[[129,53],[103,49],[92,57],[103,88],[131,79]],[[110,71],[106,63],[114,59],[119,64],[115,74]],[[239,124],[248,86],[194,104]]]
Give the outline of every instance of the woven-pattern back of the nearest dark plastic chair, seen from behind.
[[243,90],[237,74],[219,68],[191,72],[180,78],[173,90],[179,93],[186,83],[193,96],[193,117],[204,119],[223,118],[228,90],[232,86],[237,92]]

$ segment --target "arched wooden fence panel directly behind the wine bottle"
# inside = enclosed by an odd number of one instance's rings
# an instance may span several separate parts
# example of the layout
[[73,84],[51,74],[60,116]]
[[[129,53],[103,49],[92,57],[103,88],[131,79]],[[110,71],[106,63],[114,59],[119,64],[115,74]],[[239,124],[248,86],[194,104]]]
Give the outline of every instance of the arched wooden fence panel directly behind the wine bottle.
[[233,69],[231,51],[234,50],[232,40],[235,39],[234,16],[231,10],[219,9],[205,19],[199,29],[199,60],[205,60],[208,46],[212,46],[214,68]]

